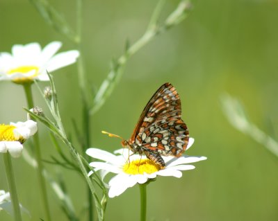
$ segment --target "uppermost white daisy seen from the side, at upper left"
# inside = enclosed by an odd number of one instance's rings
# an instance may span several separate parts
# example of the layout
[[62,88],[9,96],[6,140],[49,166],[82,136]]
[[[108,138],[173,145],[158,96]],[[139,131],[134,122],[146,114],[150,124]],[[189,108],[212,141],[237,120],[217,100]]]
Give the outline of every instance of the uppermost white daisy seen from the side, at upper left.
[[61,42],[51,42],[43,49],[40,44],[15,44],[12,53],[0,53],[0,80],[12,80],[18,84],[33,80],[47,81],[47,71],[55,71],[76,62],[79,51],[55,53]]

